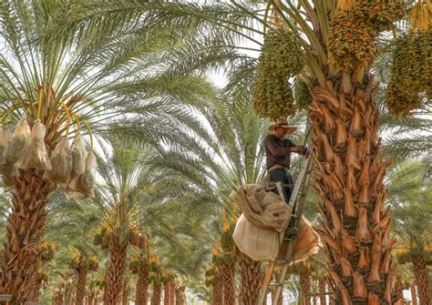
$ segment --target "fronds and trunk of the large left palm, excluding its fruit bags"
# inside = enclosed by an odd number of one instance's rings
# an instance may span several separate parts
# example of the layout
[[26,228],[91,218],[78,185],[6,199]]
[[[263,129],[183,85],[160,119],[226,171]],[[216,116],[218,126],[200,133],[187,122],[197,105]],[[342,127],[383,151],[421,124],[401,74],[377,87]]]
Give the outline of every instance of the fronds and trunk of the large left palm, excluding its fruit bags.
[[[72,27],[60,38],[49,36],[66,16],[85,9],[73,1],[7,0],[0,5],[1,121],[12,127],[25,116],[33,127],[39,120],[46,127],[48,157],[64,137],[76,137],[79,130],[94,137],[114,125],[131,134],[133,126],[141,135],[155,135],[158,122],[189,116],[180,107],[174,110],[173,99],[197,100],[192,92],[209,88],[199,85],[197,76],[177,78],[167,68],[155,72],[166,61],[161,54],[175,42],[151,22],[141,28],[145,36],[77,36]],[[44,169],[20,169],[10,182],[13,211],[0,255],[0,293],[12,294],[17,303],[26,302],[27,281],[37,273],[38,258],[29,249],[40,246],[48,196],[57,188],[42,178]]]

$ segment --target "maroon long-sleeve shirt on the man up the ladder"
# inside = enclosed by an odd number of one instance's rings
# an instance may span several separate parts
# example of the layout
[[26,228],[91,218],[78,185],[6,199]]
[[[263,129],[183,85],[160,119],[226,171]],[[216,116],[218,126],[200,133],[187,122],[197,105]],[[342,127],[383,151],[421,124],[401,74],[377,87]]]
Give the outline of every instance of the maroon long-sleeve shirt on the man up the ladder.
[[264,146],[265,155],[267,156],[267,169],[276,164],[290,168],[291,147],[295,147],[292,140],[268,135],[264,139]]

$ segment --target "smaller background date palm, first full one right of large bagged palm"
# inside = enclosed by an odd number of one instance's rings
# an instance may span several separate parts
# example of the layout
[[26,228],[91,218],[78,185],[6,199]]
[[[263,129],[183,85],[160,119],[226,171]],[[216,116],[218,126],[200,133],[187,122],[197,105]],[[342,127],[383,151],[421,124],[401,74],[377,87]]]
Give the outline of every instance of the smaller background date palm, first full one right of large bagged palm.
[[114,137],[109,143],[112,153],[105,148],[103,156],[98,157],[98,174],[103,181],[98,188],[98,202],[103,225],[95,242],[109,251],[104,301],[117,304],[126,276],[129,244],[139,246],[147,240],[138,230],[137,201],[139,193],[149,185],[151,175],[145,158],[150,158],[151,152],[132,140]]

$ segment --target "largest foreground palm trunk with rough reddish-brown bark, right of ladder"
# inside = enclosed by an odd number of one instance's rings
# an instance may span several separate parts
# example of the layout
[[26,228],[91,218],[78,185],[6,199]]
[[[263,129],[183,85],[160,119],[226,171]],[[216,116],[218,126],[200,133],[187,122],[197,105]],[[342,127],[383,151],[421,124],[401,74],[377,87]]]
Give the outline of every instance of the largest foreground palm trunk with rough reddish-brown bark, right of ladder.
[[314,188],[323,199],[319,233],[328,248],[337,304],[391,303],[391,213],[383,205],[376,86],[349,76],[315,87],[309,118],[314,130]]

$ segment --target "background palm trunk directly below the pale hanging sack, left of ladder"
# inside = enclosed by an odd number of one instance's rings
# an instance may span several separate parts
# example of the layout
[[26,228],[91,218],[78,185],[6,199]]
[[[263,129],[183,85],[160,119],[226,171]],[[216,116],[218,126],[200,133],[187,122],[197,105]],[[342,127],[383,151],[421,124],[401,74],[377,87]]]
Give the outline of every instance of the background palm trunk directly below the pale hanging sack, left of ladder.
[[254,261],[248,256],[241,254],[240,276],[242,279],[241,305],[254,305],[260,296],[264,273],[262,263]]

